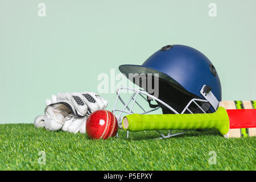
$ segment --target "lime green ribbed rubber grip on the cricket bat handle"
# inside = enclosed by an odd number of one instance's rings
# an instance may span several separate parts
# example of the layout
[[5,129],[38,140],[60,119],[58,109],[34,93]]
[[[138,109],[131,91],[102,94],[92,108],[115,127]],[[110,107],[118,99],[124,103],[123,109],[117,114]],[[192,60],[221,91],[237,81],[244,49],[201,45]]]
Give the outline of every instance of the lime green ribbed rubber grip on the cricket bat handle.
[[217,129],[222,135],[229,131],[229,116],[224,107],[210,114],[130,114],[122,121],[129,131],[170,129]]

